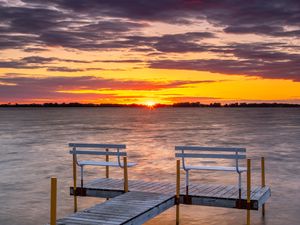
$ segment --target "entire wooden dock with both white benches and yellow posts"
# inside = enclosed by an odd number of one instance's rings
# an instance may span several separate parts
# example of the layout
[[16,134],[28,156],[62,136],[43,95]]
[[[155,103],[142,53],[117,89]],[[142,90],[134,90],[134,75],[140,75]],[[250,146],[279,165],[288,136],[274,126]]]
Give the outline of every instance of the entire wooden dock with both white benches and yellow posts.
[[[259,187],[251,186],[251,160],[247,159],[247,168],[240,167],[239,159],[245,159],[243,155],[246,150],[243,148],[219,148],[219,147],[195,147],[177,146],[176,157],[182,158],[176,161],[176,183],[148,182],[142,180],[128,180],[128,168],[134,163],[127,163],[125,145],[107,144],[70,144],[73,155],[73,182],[70,187],[70,194],[74,196],[74,214],[56,220],[56,178],[51,179],[51,213],[50,225],[141,225],[151,218],[159,215],[165,210],[176,206],[176,225],[179,224],[180,204],[203,205],[224,208],[246,209],[247,225],[250,225],[250,211],[262,208],[262,215],[265,215],[265,203],[271,196],[271,190],[265,185],[264,158],[262,165],[262,184]],[[78,151],[76,148],[104,148],[105,151]],[[108,147],[117,151],[109,152]],[[184,151],[209,151],[229,152],[229,154],[211,153],[186,153]],[[233,152],[233,154],[232,154]],[[77,154],[104,155],[106,161],[78,161]],[[117,157],[117,162],[110,162],[109,156]],[[123,157],[123,163],[121,162]],[[235,167],[203,167],[190,166],[184,161],[185,158],[221,158],[235,159]],[[77,185],[76,165],[81,167],[81,182]],[[106,178],[96,179],[87,183],[83,181],[84,166],[105,166]],[[120,167],[124,171],[124,179],[109,178],[109,166]],[[180,169],[186,172],[185,183],[181,184]],[[221,170],[237,172],[239,175],[238,185],[211,185],[211,184],[190,184],[189,172],[191,170]],[[241,173],[247,173],[247,187],[243,188]],[[107,201],[97,204],[89,209],[77,212],[77,197],[90,196],[106,198]]]

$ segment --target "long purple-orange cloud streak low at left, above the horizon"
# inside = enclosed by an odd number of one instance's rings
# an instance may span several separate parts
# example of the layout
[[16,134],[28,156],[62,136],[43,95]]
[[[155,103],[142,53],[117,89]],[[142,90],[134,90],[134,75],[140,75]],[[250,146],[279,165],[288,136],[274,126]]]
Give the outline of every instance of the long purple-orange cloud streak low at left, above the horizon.
[[[108,97],[105,91],[159,91],[162,89],[183,88],[197,83],[214,81],[173,81],[150,82],[104,79],[101,77],[47,77],[30,78],[21,76],[0,77],[0,96],[2,99],[19,101],[45,98],[73,98],[88,95]],[[47,87],[47,88],[45,88]],[[84,91],[84,92],[82,92]],[[104,93],[101,93],[104,91]],[[38,97],[37,97],[38,96]],[[141,96],[140,96],[141,97]],[[113,98],[112,98],[113,99]]]

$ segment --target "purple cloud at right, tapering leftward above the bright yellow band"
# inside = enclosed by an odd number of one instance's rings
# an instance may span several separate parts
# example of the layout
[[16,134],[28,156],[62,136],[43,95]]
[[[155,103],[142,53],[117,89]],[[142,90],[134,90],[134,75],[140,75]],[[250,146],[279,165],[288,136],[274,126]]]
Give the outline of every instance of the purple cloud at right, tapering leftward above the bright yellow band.
[[[228,75],[300,81],[300,54],[276,51],[281,43],[233,43],[211,48],[230,59],[153,60],[151,68],[210,71]],[[233,58],[233,59],[232,59]]]

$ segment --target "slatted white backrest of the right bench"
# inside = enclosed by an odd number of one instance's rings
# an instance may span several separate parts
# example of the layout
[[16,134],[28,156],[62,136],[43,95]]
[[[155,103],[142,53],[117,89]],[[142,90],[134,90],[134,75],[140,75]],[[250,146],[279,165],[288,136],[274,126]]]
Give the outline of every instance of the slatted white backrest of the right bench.
[[246,159],[245,148],[175,146],[175,157],[182,158],[185,169],[185,158],[235,159],[238,170],[238,160]]

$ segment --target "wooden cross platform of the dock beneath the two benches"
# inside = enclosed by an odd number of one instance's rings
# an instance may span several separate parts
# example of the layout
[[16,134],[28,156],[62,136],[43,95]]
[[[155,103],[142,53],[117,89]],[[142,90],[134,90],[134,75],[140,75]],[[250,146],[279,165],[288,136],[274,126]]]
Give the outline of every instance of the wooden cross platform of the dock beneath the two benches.
[[[175,196],[175,183],[147,182],[142,180],[129,180],[129,191],[159,193]],[[122,179],[101,178],[77,187],[77,196],[90,196],[114,198],[124,193]],[[70,187],[70,194],[74,194]],[[242,191],[241,204],[239,203],[239,189],[237,186],[190,184],[189,195],[186,195],[185,186],[180,187],[180,203],[191,205],[205,205],[226,208],[247,208],[246,189]],[[258,210],[271,196],[269,187],[253,187],[251,189],[251,209]]]

